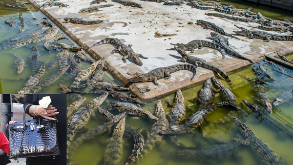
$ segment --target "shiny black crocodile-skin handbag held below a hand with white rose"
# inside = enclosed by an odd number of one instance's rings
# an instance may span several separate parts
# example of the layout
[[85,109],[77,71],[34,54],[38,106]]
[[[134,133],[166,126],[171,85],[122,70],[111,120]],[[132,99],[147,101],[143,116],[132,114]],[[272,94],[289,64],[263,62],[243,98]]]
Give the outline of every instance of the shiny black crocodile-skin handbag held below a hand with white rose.
[[9,159],[60,155],[56,121],[43,119],[9,124]]

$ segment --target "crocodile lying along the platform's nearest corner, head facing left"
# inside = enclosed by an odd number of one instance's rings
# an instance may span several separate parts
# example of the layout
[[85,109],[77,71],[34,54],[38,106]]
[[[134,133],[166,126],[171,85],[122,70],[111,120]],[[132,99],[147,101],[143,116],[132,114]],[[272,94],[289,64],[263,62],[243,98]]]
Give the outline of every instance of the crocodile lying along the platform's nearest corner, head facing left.
[[177,72],[179,70],[189,70],[193,73],[193,76],[190,79],[190,82],[196,74],[196,66],[190,64],[175,64],[167,67],[158,67],[148,73],[128,73],[128,75],[133,76],[130,79],[127,79],[129,82],[153,82],[155,85],[159,85],[157,80],[159,79],[169,79],[171,73]]

